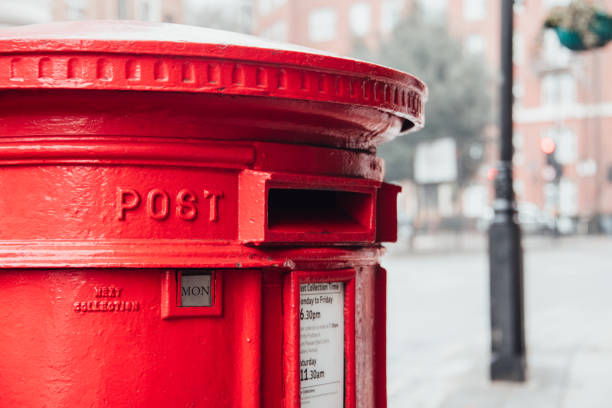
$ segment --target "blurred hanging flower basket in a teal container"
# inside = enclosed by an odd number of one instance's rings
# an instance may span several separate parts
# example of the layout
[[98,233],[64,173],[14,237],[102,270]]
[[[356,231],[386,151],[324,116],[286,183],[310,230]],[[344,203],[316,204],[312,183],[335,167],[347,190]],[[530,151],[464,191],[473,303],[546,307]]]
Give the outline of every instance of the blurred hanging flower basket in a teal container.
[[603,47],[612,40],[612,16],[583,0],[552,9],[544,27],[554,29],[561,44],[573,51]]

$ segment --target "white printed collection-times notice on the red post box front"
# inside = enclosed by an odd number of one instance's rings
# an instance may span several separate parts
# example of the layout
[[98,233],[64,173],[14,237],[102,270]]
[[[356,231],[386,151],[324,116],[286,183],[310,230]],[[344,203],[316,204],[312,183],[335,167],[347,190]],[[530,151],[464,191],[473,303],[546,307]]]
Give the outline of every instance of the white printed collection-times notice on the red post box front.
[[302,407],[344,406],[344,283],[300,285]]

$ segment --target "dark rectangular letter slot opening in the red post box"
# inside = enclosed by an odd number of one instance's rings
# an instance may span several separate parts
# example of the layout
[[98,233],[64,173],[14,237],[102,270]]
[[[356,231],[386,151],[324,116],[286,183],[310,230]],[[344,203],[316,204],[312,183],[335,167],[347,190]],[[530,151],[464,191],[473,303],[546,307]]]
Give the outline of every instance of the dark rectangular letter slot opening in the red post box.
[[282,232],[364,232],[372,195],[353,191],[271,188],[268,229]]

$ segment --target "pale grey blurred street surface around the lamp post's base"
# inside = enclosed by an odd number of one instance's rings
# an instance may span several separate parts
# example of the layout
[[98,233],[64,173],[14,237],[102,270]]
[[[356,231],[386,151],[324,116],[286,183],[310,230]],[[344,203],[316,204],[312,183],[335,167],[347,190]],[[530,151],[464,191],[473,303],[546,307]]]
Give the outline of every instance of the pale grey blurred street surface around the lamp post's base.
[[524,240],[525,383],[488,380],[486,240],[456,242],[383,257],[389,407],[612,407],[612,237]]

